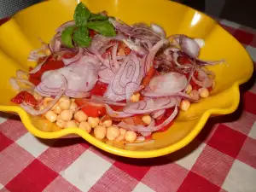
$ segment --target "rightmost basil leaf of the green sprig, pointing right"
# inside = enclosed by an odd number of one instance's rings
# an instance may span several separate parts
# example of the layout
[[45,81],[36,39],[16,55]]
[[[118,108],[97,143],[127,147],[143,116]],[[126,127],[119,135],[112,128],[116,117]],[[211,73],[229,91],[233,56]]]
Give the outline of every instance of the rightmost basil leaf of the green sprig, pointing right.
[[116,35],[113,25],[108,20],[90,21],[86,26],[104,36],[113,37]]

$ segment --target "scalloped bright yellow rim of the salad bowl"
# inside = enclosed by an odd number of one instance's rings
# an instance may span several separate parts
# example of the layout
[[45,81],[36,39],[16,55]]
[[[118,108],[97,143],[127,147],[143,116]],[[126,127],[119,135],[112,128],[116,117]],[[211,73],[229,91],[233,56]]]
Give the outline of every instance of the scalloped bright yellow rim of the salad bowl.
[[[44,2],[43,2],[44,3]],[[38,5],[33,5],[38,6]],[[184,5],[183,5],[184,6]],[[27,8],[29,9],[29,8]],[[201,15],[205,15],[199,11],[197,11]],[[17,14],[15,14],[17,15]],[[207,17],[209,17],[207,15]],[[209,17],[211,20],[213,20],[211,17]],[[6,22],[8,23],[9,20]],[[5,25],[4,23],[3,25]],[[219,24],[218,24],[219,25]],[[0,26],[1,27],[1,26]],[[224,30],[224,29],[223,29]],[[225,31],[225,30],[224,30]],[[226,32],[226,31],[225,31]],[[229,33],[229,32],[227,32]],[[230,33],[229,33],[230,35]],[[233,37],[234,38],[234,37]],[[236,40],[236,38],[234,38]],[[237,41],[237,40],[236,40]],[[238,42],[238,41],[237,41]],[[238,42],[239,43],[239,42]],[[240,43],[239,43],[240,44]],[[244,49],[244,47],[240,44],[241,48]],[[247,51],[246,51],[247,52]],[[250,57],[250,55],[247,53],[247,56]],[[253,65],[253,62],[252,62]],[[253,74],[253,71],[252,71]],[[189,132],[188,135],[183,137],[183,139],[179,140],[177,143],[173,143],[170,146],[166,148],[159,148],[154,150],[148,150],[148,151],[133,151],[133,150],[126,150],[122,148],[116,148],[113,146],[110,146],[106,143],[102,143],[101,141],[97,140],[95,137],[91,136],[89,133],[79,130],[77,128],[69,128],[69,129],[63,129],[61,131],[55,131],[55,132],[44,132],[38,130],[34,125],[32,125],[32,121],[26,113],[26,111],[23,108],[20,108],[19,106],[3,106],[0,105],[0,110],[4,112],[15,112],[18,113],[20,116],[20,119],[22,123],[25,125],[26,129],[32,133],[32,135],[36,137],[41,137],[45,139],[54,139],[54,138],[60,138],[65,137],[70,134],[76,134],[80,137],[83,137],[84,140],[91,143],[92,145],[95,145],[97,148],[101,148],[102,150],[105,150],[111,154],[117,154],[120,156],[125,157],[131,157],[131,158],[152,158],[152,157],[158,157],[165,154],[171,154],[172,152],[177,151],[180,148],[183,148],[188,143],[190,143],[201,131],[201,129],[204,127],[204,125],[207,123],[207,120],[211,117],[212,114],[229,114],[236,111],[236,108],[238,108],[239,102],[240,102],[240,90],[239,85],[247,82],[248,79],[251,78],[252,75],[244,78],[244,79],[238,79],[234,84],[231,86],[231,90],[233,92],[234,102],[230,106],[230,108],[211,108],[205,111],[201,118],[198,120],[197,124],[195,125],[195,128]]]

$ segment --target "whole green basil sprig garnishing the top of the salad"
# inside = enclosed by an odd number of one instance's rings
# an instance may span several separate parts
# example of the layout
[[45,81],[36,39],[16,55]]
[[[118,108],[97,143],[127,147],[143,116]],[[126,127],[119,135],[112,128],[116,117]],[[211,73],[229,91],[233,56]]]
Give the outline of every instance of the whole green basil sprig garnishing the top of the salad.
[[113,25],[108,21],[108,16],[90,13],[84,3],[77,5],[73,20],[75,26],[68,26],[61,33],[61,42],[68,48],[73,48],[74,44],[79,47],[90,46],[89,29],[108,37],[116,35]]

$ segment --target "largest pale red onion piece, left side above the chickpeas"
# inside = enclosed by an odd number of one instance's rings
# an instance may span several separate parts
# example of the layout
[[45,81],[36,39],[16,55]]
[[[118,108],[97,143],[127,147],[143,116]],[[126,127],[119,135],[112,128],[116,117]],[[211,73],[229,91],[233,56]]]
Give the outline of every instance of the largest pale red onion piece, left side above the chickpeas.
[[57,90],[61,87],[61,78],[56,73],[61,73],[67,79],[68,90],[73,96],[78,94],[77,96],[80,97],[81,93],[85,94],[95,86],[99,68],[99,61],[85,55],[72,65],[44,72],[36,90],[42,95],[47,93],[51,96],[57,95]]

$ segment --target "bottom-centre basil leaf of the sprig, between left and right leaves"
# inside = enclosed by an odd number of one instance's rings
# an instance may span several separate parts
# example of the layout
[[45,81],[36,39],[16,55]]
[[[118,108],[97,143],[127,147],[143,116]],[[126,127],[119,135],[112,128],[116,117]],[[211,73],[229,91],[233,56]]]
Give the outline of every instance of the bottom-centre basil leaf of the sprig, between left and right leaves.
[[73,40],[79,47],[88,47],[90,45],[91,38],[86,26],[79,26],[78,30],[73,33]]

